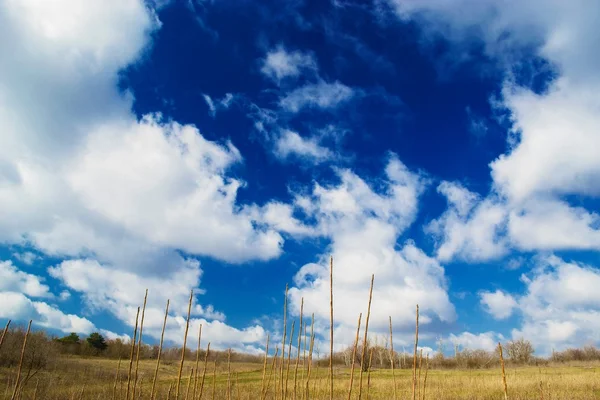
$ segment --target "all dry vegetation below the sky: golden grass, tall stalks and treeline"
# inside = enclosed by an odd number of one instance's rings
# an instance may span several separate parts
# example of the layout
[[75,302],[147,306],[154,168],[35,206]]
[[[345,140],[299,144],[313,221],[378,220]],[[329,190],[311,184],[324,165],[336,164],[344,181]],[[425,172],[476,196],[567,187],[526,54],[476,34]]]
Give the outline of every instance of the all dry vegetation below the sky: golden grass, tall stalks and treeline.
[[[333,271],[333,263],[331,267]],[[333,282],[333,273],[330,277]],[[103,342],[94,334],[84,341],[74,334],[50,338],[29,327],[7,324],[0,336],[0,396],[11,400],[600,398],[600,350],[595,347],[541,359],[533,357],[529,342],[517,340],[504,348],[499,344],[495,352],[455,349],[453,357],[438,353],[430,359],[418,351],[418,306],[413,354],[397,353],[391,346],[391,317],[389,338],[380,345],[368,333],[372,289],[373,278],[363,337],[359,315],[354,343],[339,353],[330,347],[327,357],[318,360],[313,354],[314,315],[306,318],[302,309],[298,329],[293,321],[288,330],[287,302],[282,341],[272,349],[267,338],[270,357],[212,351],[210,343],[203,348],[202,329],[194,350],[185,342],[182,348],[163,348],[162,338],[158,345],[146,345],[146,298],[130,343]],[[167,316],[168,304],[165,325]],[[299,351],[292,348],[296,341]]]

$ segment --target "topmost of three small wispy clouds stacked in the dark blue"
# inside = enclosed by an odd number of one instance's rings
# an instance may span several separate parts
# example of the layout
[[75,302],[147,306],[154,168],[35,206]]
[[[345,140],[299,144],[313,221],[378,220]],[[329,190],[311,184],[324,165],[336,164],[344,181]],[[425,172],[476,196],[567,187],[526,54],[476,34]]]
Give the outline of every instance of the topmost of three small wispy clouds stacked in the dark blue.
[[298,77],[303,71],[318,69],[317,62],[310,53],[287,51],[283,46],[269,51],[264,59],[261,72],[279,83],[288,77]]

